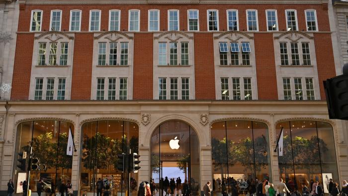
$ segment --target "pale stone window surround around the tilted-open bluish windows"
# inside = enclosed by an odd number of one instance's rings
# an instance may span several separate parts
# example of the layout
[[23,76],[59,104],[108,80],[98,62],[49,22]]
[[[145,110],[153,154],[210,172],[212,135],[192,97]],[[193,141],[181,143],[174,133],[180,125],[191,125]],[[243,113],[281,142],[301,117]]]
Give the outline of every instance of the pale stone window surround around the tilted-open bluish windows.
[[[238,42],[240,47],[240,52],[242,53],[241,43],[249,42],[250,43],[250,66],[241,66],[241,65],[220,65],[220,50],[219,42]],[[228,44],[228,60],[231,62],[231,47]],[[241,55],[241,54],[240,54]],[[254,44],[254,33],[244,33],[240,31],[226,31],[224,33],[214,33],[214,64],[215,64],[215,97],[216,99],[221,98],[221,78],[229,79],[229,91],[230,99],[232,99],[232,78],[240,78],[240,84],[244,84],[243,78],[251,78],[252,82],[252,93],[253,99],[258,99],[258,85],[257,85],[257,75],[256,75],[256,62],[255,62],[255,44]],[[239,61],[241,62],[241,56],[239,56]],[[244,88],[244,86],[243,86]],[[241,98],[244,95],[242,94],[241,88]],[[243,97],[244,98],[244,97]],[[242,98],[242,99],[243,99]]]

